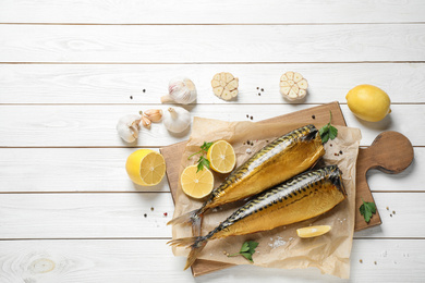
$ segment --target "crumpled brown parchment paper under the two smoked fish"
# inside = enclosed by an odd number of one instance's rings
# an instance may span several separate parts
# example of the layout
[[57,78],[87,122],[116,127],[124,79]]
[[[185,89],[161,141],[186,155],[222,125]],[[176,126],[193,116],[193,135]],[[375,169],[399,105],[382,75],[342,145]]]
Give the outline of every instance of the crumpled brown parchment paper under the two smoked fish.
[[[195,118],[192,134],[182,157],[180,173],[187,165],[197,161],[197,156],[187,160],[187,157],[199,150],[204,142],[224,139],[229,142],[236,153],[236,167],[247,160],[253,153],[262,149],[275,138],[303,125],[286,123],[253,123],[253,122],[223,122],[210,119]],[[316,127],[321,127],[317,124]],[[348,198],[329,212],[303,222],[280,226],[271,231],[258,232],[248,235],[231,236],[223,239],[208,242],[201,253],[201,259],[229,262],[233,264],[251,264],[243,257],[227,257],[223,253],[238,253],[245,241],[259,243],[253,255],[254,264],[267,268],[295,269],[316,267],[321,273],[348,279],[350,276],[350,253],[354,233],[355,205],[355,162],[359,152],[361,133],[357,128],[338,127],[338,137],[325,144],[326,164],[338,164],[343,172],[343,184]],[[254,144],[251,146],[251,144]],[[250,145],[248,145],[250,144]],[[340,153],[342,151],[342,155]],[[226,175],[215,173],[215,187]],[[181,189],[180,182],[175,196],[174,218],[197,209],[204,200],[187,197]],[[223,207],[215,208],[205,214],[203,235],[216,227],[229,217],[244,201],[238,201]],[[330,225],[328,234],[314,238],[300,238],[296,229],[308,225]],[[172,237],[190,237],[190,226],[174,225]],[[186,256],[189,249],[173,248],[175,256]]]

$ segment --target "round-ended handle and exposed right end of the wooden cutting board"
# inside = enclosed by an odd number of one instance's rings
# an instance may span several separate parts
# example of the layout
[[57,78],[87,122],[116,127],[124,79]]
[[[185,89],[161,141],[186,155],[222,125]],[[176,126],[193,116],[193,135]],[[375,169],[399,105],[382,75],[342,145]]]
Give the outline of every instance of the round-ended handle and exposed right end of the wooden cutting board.
[[413,147],[410,140],[398,132],[384,132],[379,134],[369,148],[359,150],[356,167],[356,199],[355,222],[356,230],[366,229],[381,223],[379,211],[366,223],[359,212],[364,201],[374,202],[366,173],[369,169],[378,169],[385,173],[397,174],[406,169],[413,161]]

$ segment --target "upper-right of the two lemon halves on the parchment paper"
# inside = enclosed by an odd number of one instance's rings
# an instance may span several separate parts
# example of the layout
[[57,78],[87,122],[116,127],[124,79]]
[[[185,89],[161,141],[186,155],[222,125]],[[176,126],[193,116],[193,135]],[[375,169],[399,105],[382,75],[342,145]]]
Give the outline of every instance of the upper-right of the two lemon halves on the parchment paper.
[[226,140],[218,140],[209,147],[207,152],[210,168],[219,173],[229,173],[236,163],[236,156],[232,145]]

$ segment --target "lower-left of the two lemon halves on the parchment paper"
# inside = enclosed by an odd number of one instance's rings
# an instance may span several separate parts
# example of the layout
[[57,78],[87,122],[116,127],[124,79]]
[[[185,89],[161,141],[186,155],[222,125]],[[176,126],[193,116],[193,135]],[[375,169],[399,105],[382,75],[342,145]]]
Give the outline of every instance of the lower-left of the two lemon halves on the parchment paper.
[[180,177],[183,192],[193,198],[208,196],[214,187],[214,176],[211,171],[204,168],[197,171],[197,165],[190,165],[183,170]]

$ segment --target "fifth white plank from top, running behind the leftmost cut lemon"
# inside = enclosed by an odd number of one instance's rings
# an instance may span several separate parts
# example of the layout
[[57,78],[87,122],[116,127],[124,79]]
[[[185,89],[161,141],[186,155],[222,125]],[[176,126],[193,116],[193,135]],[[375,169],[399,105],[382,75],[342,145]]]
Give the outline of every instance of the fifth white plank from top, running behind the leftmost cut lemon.
[[[133,185],[124,163],[135,148],[0,148],[0,192],[170,192],[165,179],[158,186]],[[403,172],[389,175],[371,170],[373,192],[424,192],[425,148]],[[25,177],[22,177],[22,176]]]

